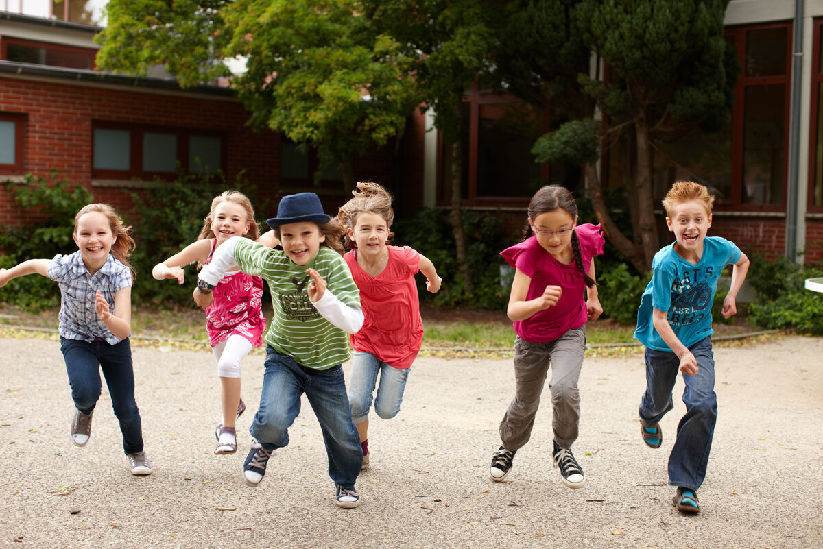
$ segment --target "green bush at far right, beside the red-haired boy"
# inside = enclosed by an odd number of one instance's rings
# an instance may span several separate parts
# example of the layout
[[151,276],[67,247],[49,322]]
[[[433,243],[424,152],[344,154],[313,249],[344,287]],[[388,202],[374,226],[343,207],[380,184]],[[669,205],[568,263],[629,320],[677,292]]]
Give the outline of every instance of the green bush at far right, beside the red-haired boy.
[[806,279],[820,276],[821,264],[796,265],[783,257],[765,261],[755,254],[747,277],[756,293],[749,304],[750,321],[771,330],[823,334],[823,298],[804,287]]

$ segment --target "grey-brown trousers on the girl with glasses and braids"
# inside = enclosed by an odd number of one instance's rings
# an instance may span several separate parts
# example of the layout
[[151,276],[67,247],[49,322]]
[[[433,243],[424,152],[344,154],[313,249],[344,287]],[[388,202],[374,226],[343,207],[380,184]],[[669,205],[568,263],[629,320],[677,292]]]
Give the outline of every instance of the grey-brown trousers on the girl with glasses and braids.
[[551,426],[560,448],[577,440],[580,422],[578,381],[586,349],[586,329],[569,330],[548,343],[514,342],[514,399],[500,422],[500,441],[506,450],[518,450],[532,436],[534,416],[551,367]]

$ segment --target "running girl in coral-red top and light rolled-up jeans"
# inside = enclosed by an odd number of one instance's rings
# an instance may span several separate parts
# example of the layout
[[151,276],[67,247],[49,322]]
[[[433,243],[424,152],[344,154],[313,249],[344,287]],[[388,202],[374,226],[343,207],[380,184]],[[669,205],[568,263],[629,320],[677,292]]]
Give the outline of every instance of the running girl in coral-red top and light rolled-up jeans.
[[423,340],[423,321],[414,275],[425,274],[431,293],[440,289],[435,265],[411,247],[387,246],[393,233],[392,196],[377,183],[357,183],[355,197],[337,214],[346,227],[344,258],[351,269],[365,321],[351,334],[349,404],[360,434],[363,468],[369,467],[369,408],[380,376],[374,411],[391,419],[400,412],[412,362]]

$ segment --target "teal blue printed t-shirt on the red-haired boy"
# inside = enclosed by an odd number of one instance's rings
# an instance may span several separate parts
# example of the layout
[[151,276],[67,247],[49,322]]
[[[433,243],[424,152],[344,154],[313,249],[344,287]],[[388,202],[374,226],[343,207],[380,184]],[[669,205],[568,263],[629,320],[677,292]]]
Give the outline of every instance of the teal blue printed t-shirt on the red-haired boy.
[[677,339],[691,347],[714,334],[712,303],[726,265],[740,261],[740,249],[725,238],[706,237],[703,256],[693,265],[677,255],[674,242],[654,255],[652,279],[640,299],[635,339],[647,348],[671,349],[654,329],[652,309],[667,311]]

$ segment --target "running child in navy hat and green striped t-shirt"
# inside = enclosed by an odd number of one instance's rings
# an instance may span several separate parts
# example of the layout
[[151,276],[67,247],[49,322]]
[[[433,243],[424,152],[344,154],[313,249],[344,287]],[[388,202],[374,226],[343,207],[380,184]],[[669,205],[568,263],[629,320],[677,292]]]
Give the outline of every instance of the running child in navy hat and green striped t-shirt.
[[195,302],[205,307],[230,269],[262,276],[272,293],[274,316],[266,332],[266,371],[260,407],[249,429],[253,440],[243,465],[244,482],[258,486],[272,451],[289,443],[288,428],[305,393],[323,431],[328,475],[340,507],[360,505],[355,481],[363,465],[360,438],[351,421],[342,362],[351,358],[346,334],[363,325],[360,295],[343,260],[337,219],[323,212],[313,192],[284,196],[277,217],[267,219],[281,243],[272,250],[246,238],[217,248],[198,277]]

